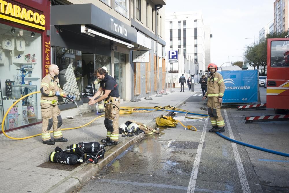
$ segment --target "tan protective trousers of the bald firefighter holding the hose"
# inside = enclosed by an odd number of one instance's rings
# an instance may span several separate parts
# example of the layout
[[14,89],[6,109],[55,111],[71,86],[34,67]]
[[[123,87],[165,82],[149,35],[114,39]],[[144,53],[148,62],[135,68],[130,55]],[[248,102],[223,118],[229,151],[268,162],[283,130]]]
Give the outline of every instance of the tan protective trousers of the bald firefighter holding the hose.
[[54,139],[62,137],[60,126],[62,125],[62,118],[57,103],[55,104],[41,104],[42,116],[42,141],[49,141],[50,129],[53,128]]

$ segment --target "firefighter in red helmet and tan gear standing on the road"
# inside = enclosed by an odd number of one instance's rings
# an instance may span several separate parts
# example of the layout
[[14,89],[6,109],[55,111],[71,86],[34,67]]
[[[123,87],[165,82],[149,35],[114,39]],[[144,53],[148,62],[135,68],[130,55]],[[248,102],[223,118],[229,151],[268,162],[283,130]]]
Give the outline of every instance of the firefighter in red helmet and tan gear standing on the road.
[[208,80],[208,91],[205,93],[203,100],[208,97],[208,113],[211,119],[212,129],[209,132],[224,132],[225,122],[221,114],[221,106],[225,91],[224,79],[221,74],[216,72],[217,65],[210,63],[208,65],[210,79]]

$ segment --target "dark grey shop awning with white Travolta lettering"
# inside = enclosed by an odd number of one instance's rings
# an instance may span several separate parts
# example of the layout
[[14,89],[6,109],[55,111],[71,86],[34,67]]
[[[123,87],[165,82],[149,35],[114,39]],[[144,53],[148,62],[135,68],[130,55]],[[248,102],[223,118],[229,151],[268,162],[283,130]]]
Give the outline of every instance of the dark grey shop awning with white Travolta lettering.
[[[55,26],[55,30],[53,29]],[[69,27],[71,25],[71,27]],[[51,44],[57,44],[61,35],[60,28],[65,28],[80,33],[80,25],[85,25],[93,30],[117,38],[127,43],[137,42],[137,30],[121,22],[97,6],[89,4],[55,5],[51,6]],[[58,30],[57,30],[58,28]],[[78,29],[79,30],[78,30]],[[76,30],[77,29],[77,30]],[[63,31],[63,30],[62,30]],[[83,34],[88,36],[87,34]],[[90,37],[92,38],[92,37]],[[95,36],[97,41],[109,41],[106,38]],[[103,40],[106,39],[106,40]]]

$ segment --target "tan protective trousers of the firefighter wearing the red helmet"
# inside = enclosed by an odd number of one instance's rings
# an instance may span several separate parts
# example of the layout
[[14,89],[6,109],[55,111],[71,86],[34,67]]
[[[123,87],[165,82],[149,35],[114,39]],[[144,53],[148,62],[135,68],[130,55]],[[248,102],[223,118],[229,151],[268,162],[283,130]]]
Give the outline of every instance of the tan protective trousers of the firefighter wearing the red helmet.
[[208,97],[208,113],[213,127],[224,127],[225,122],[221,114],[221,104],[216,97]]

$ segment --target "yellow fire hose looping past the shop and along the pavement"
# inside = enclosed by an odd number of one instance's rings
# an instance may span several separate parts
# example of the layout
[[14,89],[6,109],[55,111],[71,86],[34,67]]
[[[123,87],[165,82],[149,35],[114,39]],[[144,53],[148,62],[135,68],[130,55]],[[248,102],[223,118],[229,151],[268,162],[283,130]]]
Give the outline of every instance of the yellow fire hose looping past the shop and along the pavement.
[[[36,94],[36,93],[40,93],[40,91],[36,91],[36,92],[33,92],[33,93],[29,93],[29,94],[27,94],[27,95],[19,98],[19,99],[16,100],[16,101],[10,106],[10,108],[7,110],[7,112],[5,113],[5,115],[4,115],[4,117],[3,117],[3,121],[2,121],[2,132],[3,132],[3,134],[4,134],[6,137],[8,137],[8,138],[10,138],[10,139],[21,140],[21,139],[28,139],[28,138],[32,138],[32,137],[36,137],[36,136],[40,136],[40,135],[41,135],[41,133],[40,133],[40,134],[37,134],[37,135],[31,135],[31,136],[28,136],[28,137],[18,138],[18,137],[10,137],[10,136],[7,135],[7,134],[5,133],[5,131],[4,131],[5,119],[6,119],[7,115],[8,115],[8,113],[9,113],[9,111],[13,108],[13,106],[14,106],[15,104],[17,104],[20,100],[24,99],[25,97],[27,97],[27,96],[29,96],[29,95]],[[138,109],[154,109],[154,110],[147,111],[147,110],[138,110]],[[121,107],[121,108],[120,108],[120,113],[119,113],[119,114],[149,113],[149,112],[158,111],[158,110],[166,111],[165,109],[170,109],[170,110],[173,109],[173,110],[177,110],[177,111],[182,111],[182,112],[184,112],[184,113],[186,112],[186,115],[187,115],[187,113],[190,113],[190,111],[186,111],[186,110],[183,110],[183,109],[177,109],[177,108],[171,107],[171,106],[165,106],[165,107],[162,107],[162,108],[161,108],[161,107],[131,107],[131,106],[124,106],[124,107]],[[169,111],[166,111],[166,112],[169,113]],[[186,115],[185,115],[185,117],[186,117]],[[188,119],[203,119],[203,118],[209,117],[208,114],[202,114],[202,115],[205,116],[205,117],[186,117],[186,118],[188,118]],[[92,121],[90,121],[90,122],[88,122],[88,123],[86,123],[86,124],[84,124],[84,125],[81,125],[81,126],[78,126],[78,127],[63,128],[63,129],[61,129],[61,130],[78,129],[78,128],[81,128],[81,127],[84,127],[84,126],[87,126],[87,125],[91,124],[92,122],[94,122],[95,120],[97,120],[98,118],[103,117],[103,116],[104,116],[104,115],[100,115],[100,116],[94,118]],[[182,124],[180,121],[177,121],[177,122],[179,122],[182,126],[184,126],[184,124]],[[197,128],[195,128],[194,126],[191,126],[191,125],[189,125],[189,126],[187,126],[187,127],[184,126],[184,127],[185,127],[185,128],[188,128],[188,129],[190,129],[190,130],[193,130],[193,129],[191,129],[191,127],[193,127],[193,128],[194,128],[194,131],[197,131]],[[50,131],[49,133],[52,133],[52,132],[53,132],[53,131]]]

